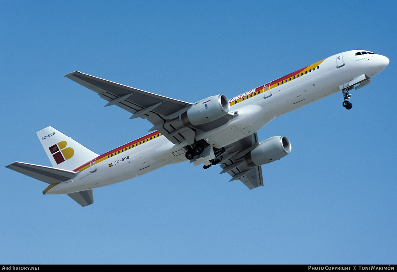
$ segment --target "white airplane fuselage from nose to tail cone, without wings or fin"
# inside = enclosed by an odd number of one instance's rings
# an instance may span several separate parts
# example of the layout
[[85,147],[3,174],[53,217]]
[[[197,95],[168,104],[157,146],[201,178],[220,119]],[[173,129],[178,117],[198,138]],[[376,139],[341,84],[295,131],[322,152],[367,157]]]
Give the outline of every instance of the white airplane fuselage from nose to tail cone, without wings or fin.
[[[341,92],[340,85],[359,75],[365,74],[369,78],[377,75],[389,63],[382,55],[356,55],[356,52],[360,50],[330,56],[313,64],[314,69],[309,69],[311,66],[308,66],[306,70],[303,68],[291,73],[285,80],[281,80],[285,78],[283,77],[271,81],[267,90],[263,89],[258,94],[255,92],[253,95],[253,89],[237,96],[237,99],[229,99],[230,111],[238,112],[238,115],[216,129],[197,133],[196,140],[204,139],[216,148],[225,147],[255,133],[278,116]],[[234,102],[235,100],[239,101]],[[186,161],[183,149],[185,145],[186,143],[174,145],[166,137],[159,136],[131,149],[114,152],[114,155],[112,152],[109,158],[81,168],[83,170],[74,179],[58,183],[46,194],[73,193],[103,187],[141,176],[168,164]]]

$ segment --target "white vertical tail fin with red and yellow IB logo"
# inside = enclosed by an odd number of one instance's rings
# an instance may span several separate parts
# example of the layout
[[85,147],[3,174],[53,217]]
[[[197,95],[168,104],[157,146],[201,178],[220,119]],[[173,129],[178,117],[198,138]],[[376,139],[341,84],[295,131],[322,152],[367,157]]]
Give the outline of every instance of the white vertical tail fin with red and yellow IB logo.
[[46,127],[36,134],[55,168],[73,170],[98,156],[53,127]]

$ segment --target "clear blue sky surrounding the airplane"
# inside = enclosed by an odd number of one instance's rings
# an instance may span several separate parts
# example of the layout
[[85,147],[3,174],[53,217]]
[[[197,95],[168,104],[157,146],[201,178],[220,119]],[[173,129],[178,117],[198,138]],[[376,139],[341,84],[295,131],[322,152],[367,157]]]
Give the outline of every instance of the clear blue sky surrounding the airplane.
[[[63,77],[71,71],[196,102],[228,98],[339,52],[389,66],[353,91],[270,122],[292,152],[264,187],[188,163],[94,190],[82,208],[0,168],[4,264],[395,264],[393,1],[2,1],[2,166],[50,166],[49,125],[96,153],[145,135],[146,120]],[[394,71],[394,72],[393,72]]]

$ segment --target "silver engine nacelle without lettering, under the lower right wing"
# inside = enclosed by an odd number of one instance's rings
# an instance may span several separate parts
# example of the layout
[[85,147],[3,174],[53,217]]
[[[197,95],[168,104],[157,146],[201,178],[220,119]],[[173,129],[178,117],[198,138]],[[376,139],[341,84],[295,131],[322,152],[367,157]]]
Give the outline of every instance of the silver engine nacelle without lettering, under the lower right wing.
[[291,143],[285,136],[275,136],[259,143],[255,149],[244,156],[245,163],[260,166],[279,160],[291,152]]

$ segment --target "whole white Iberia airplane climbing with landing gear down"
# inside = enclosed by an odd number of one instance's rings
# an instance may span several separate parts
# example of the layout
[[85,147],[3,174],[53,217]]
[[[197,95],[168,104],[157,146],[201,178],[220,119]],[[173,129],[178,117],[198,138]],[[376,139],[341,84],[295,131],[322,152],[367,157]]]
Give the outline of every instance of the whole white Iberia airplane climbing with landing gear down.
[[75,71],[65,77],[87,87],[131,114],[152,123],[149,134],[96,154],[53,127],[37,132],[52,167],[13,162],[16,172],[48,183],[44,195],[66,194],[81,206],[93,204],[93,189],[190,161],[203,168],[219,164],[220,174],[249,189],[263,186],[262,168],[291,152],[285,136],[259,142],[257,131],[275,118],[341,92],[352,108],[349,91],[360,89],[389,64],[366,50],[339,53],[227,99],[213,95],[195,103],[100,79]]

